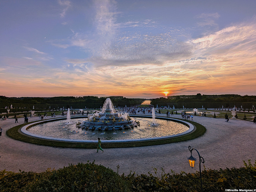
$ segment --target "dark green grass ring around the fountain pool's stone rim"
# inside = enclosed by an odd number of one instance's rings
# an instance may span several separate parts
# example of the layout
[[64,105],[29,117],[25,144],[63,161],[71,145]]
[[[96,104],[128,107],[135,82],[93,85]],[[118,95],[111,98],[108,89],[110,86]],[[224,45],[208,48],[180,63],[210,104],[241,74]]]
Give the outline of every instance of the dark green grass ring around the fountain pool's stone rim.
[[[179,119],[179,118],[170,118],[170,119],[173,119],[174,121],[175,121],[175,119],[187,121],[187,120],[183,120],[183,119]],[[30,123],[34,123],[34,122],[30,122]],[[38,124],[43,123],[43,122],[44,121],[38,121]],[[160,138],[160,139],[153,139],[153,140],[146,140],[146,141],[124,141],[124,142],[118,142],[118,143],[116,143],[116,142],[102,143],[102,148],[144,147],[144,146],[150,146],[150,145],[164,145],[164,144],[168,144],[168,143],[192,140],[192,139],[202,136],[206,132],[206,128],[203,125],[200,125],[199,123],[196,123],[194,121],[187,121],[187,122],[194,125],[194,130],[191,131],[190,133],[187,133],[187,134],[184,134],[181,136],[170,137],[170,138]],[[10,137],[12,139],[16,139],[18,141],[23,141],[26,143],[32,143],[32,144],[36,144],[36,145],[62,147],[62,148],[85,148],[85,149],[97,148],[97,145],[96,145],[97,142],[81,143],[81,142],[75,142],[75,141],[74,142],[56,141],[56,140],[51,140],[51,139],[41,139],[38,137],[32,137],[30,135],[26,135],[26,134],[22,133],[20,131],[20,129],[30,123],[24,123],[24,124],[12,127],[6,131],[6,135],[8,135],[8,137]]]

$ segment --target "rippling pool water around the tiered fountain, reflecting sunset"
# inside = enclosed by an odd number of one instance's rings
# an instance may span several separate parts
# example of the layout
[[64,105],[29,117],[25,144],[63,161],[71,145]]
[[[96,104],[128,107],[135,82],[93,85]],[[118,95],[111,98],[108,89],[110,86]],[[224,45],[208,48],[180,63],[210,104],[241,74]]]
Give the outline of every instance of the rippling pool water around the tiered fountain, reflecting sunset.
[[159,119],[156,119],[158,125],[152,126],[149,124],[152,123],[150,118],[136,118],[136,120],[140,121],[140,126],[128,130],[92,131],[78,129],[76,123],[83,120],[84,118],[72,119],[71,123],[66,123],[66,120],[52,121],[30,127],[27,131],[38,135],[64,139],[97,140],[100,137],[102,140],[116,140],[169,136],[183,133],[189,129],[182,123]]

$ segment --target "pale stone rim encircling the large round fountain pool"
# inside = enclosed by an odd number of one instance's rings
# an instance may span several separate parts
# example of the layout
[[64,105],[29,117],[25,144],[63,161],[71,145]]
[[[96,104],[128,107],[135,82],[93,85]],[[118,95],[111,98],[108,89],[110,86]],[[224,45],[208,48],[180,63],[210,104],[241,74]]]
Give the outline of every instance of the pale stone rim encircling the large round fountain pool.
[[[71,117],[71,119],[83,118],[83,117],[86,118],[86,116],[75,116],[75,117]],[[152,118],[152,116],[142,116],[142,115],[130,115],[130,117]],[[46,137],[46,136],[30,133],[29,131],[26,130],[29,127],[32,127],[36,124],[41,124],[41,123],[45,123],[45,122],[49,122],[49,121],[65,120],[65,119],[66,118],[55,118],[55,119],[49,119],[49,120],[44,120],[44,121],[40,121],[40,122],[30,123],[30,124],[25,125],[24,127],[22,127],[20,129],[20,131],[22,133],[24,133],[25,135],[29,135],[30,137],[35,137],[35,138],[38,138],[38,139],[49,139],[49,140],[53,140],[53,141],[65,141],[65,142],[77,142],[77,143],[96,143],[96,142],[98,142],[98,140],[62,139],[62,138],[55,138],[55,137]],[[178,133],[176,135],[170,135],[170,136],[152,137],[152,138],[143,138],[143,139],[102,140],[102,143],[132,142],[132,141],[134,142],[134,141],[149,141],[149,140],[157,140],[157,139],[168,139],[168,138],[172,138],[172,137],[178,137],[178,136],[181,136],[181,135],[185,135],[185,134],[190,133],[191,131],[194,130],[194,125],[192,125],[191,123],[186,122],[186,121],[172,119],[172,118],[166,118],[166,117],[160,117],[160,116],[156,116],[156,119],[176,121],[178,123],[182,123],[184,125],[187,125],[189,127],[189,129],[187,131],[183,132],[183,133]]]

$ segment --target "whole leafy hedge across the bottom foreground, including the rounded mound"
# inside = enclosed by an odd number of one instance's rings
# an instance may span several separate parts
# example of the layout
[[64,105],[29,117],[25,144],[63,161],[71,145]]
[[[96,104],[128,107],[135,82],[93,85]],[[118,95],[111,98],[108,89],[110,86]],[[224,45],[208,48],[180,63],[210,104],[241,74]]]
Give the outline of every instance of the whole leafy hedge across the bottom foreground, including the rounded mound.
[[[225,189],[256,188],[256,161],[245,163],[245,167],[202,171],[203,190],[207,192],[225,191]],[[118,166],[119,168],[119,166]],[[127,176],[114,172],[110,168],[93,163],[78,163],[58,170],[45,172],[6,172],[0,171],[1,192],[77,192],[77,191],[200,191],[200,174],[196,173],[148,173]]]

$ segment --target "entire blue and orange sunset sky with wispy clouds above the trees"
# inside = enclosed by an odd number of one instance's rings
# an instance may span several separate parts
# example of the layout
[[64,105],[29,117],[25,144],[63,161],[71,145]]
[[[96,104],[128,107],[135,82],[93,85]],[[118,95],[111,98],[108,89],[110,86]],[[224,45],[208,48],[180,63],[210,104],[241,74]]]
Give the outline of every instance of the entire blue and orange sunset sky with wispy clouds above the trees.
[[0,83],[7,97],[256,95],[256,1],[2,0]]

